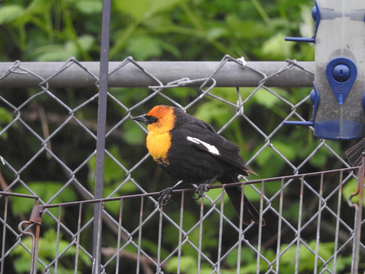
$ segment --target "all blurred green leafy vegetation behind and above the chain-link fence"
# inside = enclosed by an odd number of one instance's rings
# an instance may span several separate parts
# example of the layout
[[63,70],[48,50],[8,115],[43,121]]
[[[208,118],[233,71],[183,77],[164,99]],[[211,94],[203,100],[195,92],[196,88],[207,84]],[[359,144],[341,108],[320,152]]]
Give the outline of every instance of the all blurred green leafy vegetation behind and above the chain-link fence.
[[[313,35],[314,23],[311,18],[313,5],[314,1],[312,0],[114,0],[112,1],[111,15],[110,60],[120,61],[127,56],[132,56],[137,61],[218,61],[225,54],[229,54],[235,58],[243,56],[246,60],[251,61],[283,61],[286,58],[313,61],[313,45],[284,41],[285,36],[311,37]],[[0,3],[0,61],[66,61],[71,56],[76,57],[78,61],[97,61],[100,55],[101,11],[101,0],[3,0]],[[274,88],[273,90],[290,102],[297,103],[308,95],[311,89]],[[19,106],[29,96],[38,91],[34,88],[16,90],[16,92],[11,89],[4,89],[1,94],[9,102]],[[51,89],[51,91],[73,108],[95,94],[96,89],[60,88]],[[132,106],[149,94],[146,88],[110,88],[110,92],[126,106]],[[215,88],[212,92],[234,103],[237,100],[235,89],[232,88]],[[251,92],[251,88],[241,88],[242,98],[246,98]],[[179,88],[178,91],[167,91],[166,94],[180,104],[187,104],[197,96],[197,90]],[[141,106],[138,109],[139,113],[134,115],[146,113],[152,106],[159,103],[167,102],[162,98],[155,97]],[[92,102],[75,112],[75,116],[85,125],[87,124],[93,132],[96,129],[96,109],[97,102]],[[64,117],[68,115],[65,109],[62,109],[49,97],[38,96],[32,100],[24,107],[22,117],[41,136],[42,126],[39,121],[39,111],[52,114],[47,116],[50,132],[56,129],[64,121]],[[234,111],[234,109],[229,109],[219,101],[204,98],[192,107],[189,113],[204,119],[214,125],[216,129],[219,129],[232,117]],[[290,108],[285,103],[261,90],[245,105],[245,114],[256,125],[259,125],[266,134],[272,132],[289,111]],[[310,119],[311,106],[309,102],[303,105],[300,111],[303,117]],[[36,118],[32,118],[34,114]],[[108,102],[108,127],[111,128],[115,125],[125,114],[125,110],[116,103]],[[12,111],[7,106],[0,105],[0,127],[7,125],[12,119]],[[224,130],[223,135],[243,148],[242,155],[246,159],[250,159],[265,141],[247,123],[237,120]],[[145,133],[132,121],[126,121],[107,138],[106,148],[115,159],[127,168],[131,168],[146,154],[146,148],[143,144],[144,139]],[[51,142],[53,152],[71,169],[77,168],[95,150],[95,140],[72,123],[56,134]],[[342,156],[345,148],[349,147],[348,142],[333,141],[328,143]],[[307,128],[288,126],[280,129],[275,134],[272,144],[297,166],[319,144],[319,140],[313,138],[311,131]],[[0,136],[1,155],[15,169],[22,167],[40,147],[39,141],[17,124]],[[106,156],[105,161],[104,194],[107,196],[118,187],[120,181],[124,179],[125,172],[109,156]],[[258,177],[253,176],[253,179],[290,175],[293,172],[292,168],[269,148],[264,149],[251,166],[259,174]],[[338,161],[331,156],[331,153],[321,148],[310,159],[309,163],[301,168],[300,172],[314,172],[340,167]],[[94,172],[95,158],[92,158],[76,174],[78,180],[92,193]],[[5,182],[14,180],[14,174],[10,170],[1,167],[1,173]],[[172,179],[161,173],[161,170],[157,168],[151,159],[146,160],[141,168],[134,173],[132,174],[133,178],[150,192],[159,191],[171,185]],[[69,177],[53,159],[48,159],[46,154],[42,154],[30,167],[22,172],[22,179],[43,201],[48,201],[60,189],[60,186],[68,181]],[[159,183],[157,184],[157,182]],[[324,191],[331,191],[330,183],[327,183],[328,187]],[[312,184],[313,187],[318,188],[318,182],[312,182]],[[4,185],[2,187],[4,188]],[[344,189],[344,201],[354,189],[350,183],[346,187]],[[265,186],[265,194],[266,192],[268,194],[275,193],[278,189],[280,189],[280,184],[268,184]],[[24,187],[16,185],[12,191],[27,192]],[[247,196],[249,197],[255,194],[250,187],[246,187],[246,191],[248,191]],[[114,195],[136,193],[139,193],[139,190],[132,183],[127,182]],[[214,191],[211,191],[210,195],[214,197]],[[219,195],[219,192],[216,195]],[[257,202],[258,196],[253,197],[256,198],[252,198],[252,201]],[[285,197],[285,202],[288,204],[284,208],[285,217],[295,224],[299,208],[297,187],[288,187],[285,190]],[[80,199],[85,199],[85,197],[70,186],[51,202],[77,201]],[[23,200],[15,198],[11,201],[14,223],[17,224],[19,223],[18,220],[22,220],[22,216],[27,216],[30,213],[32,204],[24,204]],[[308,195],[304,199],[306,205],[304,208],[307,208],[306,212],[303,213],[304,218],[312,216],[317,210],[311,202],[311,197]],[[273,201],[273,203],[278,204],[278,200]],[[191,204],[191,207],[186,208],[184,220],[186,222],[190,220],[191,223],[194,223],[198,220],[199,214],[197,213],[197,204]],[[105,207],[112,214],[118,216],[118,205],[109,203]],[[126,205],[126,207],[126,212],[130,212],[131,216],[139,214],[138,202]],[[172,218],[176,221],[179,218],[178,207],[178,203],[172,203],[169,205],[169,209],[166,209],[170,210]],[[229,209],[228,206],[225,210],[227,216],[231,216],[232,219],[236,218],[234,211]],[[57,214],[57,211],[54,214]],[[62,216],[66,219],[65,222],[72,223],[72,220],[77,220],[77,216],[73,216],[70,212],[67,214],[71,214],[68,215],[70,217],[67,219],[65,215]],[[92,216],[91,211],[86,214],[89,217]],[[270,222],[277,223],[277,219],[268,214],[264,217],[267,224]],[[126,218],[128,219],[128,216]],[[351,223],[353,215],[347,214],[343,218]],[[42,224],[42,230],[45,232],[42,234],[41,241],[44,246],[54,250],[55,243],[52,239],[54,239],[55,232],[51,228],[51,224],[53,224],[53,220],[45,216]],[[133,225],[135,223],[131,221],[130,227],[133,228]],[[151,228],[156,225],[156,222],[152,222]],[[204,235],[208,235],[209,239],[204,240],[203,250],[207,253],[211,251],[212,256],[215,256],[214,250],[218,239],[214,236],[215,232],[210,231],[209,228],[216,227],[216,225],[217,220],[212,219],[207,220],[207,225],[204,227]],[[323,226],[326,229],[333,226],[333,223],[326,224],[324,222]],[[153,230],[155,231],[155,229]],[[276,241],[272,240],[272,235],[276,235],[276,233],[276,225],[271,228],[268,226],[268,229],[263,231],[262,242],[265,248],[262,252],[266,258],[272,259],[275,256]],[[153,233],[151,234],[151,239],[157,239]],[[91,230],[89,235],[91,235]],[[193,234],[189,237],[197,236]],[[171,242],[169,239],[175,239],[176,237],[176,230],[167,225],[163,239],[166,249],[169,249]],[[250,232],[245,237],[254,239],[257,235]],[[230,247],[236,241],[235,239],[229,239],[229,237],[226,238],[224,239],[223,249]],[[288,241],[290,242],[290,240]],[[328,237],[328,241],[333,241],[333,237]],[[87,237],[81,239],[81,242],[85,246],[91,244],[88,243]],[[60,245],[65,244],[66,242],[63,240],[60,243]],[[103,244],[105,246],[115,246],[112,240],[110,243]],[[282,240],[281,249],[284,250],[287,244],[287,240]],[[315,242],[310,242],[308,245],[314,246]],[[157,250],[153,240],[145,240],[142,246],[143,248],[149,248],[152,253]],[[135,252],[133,249],[130,251]],[[47,261],[50,259],[49,257],[52,257],[50,252],[43,250],[39,256]],[[71,249],[66,256],[73,256],[74,252]],[[182,252],[182,271],[184,273],[194,273],[196,253],[186,245],[183,247]],[[333,254],[333,243],[321,243],[320,252],[322,252],[321,256],[323,258],[329,258]],[[300,272],[313,271],[314,255],[308,253],[305,248],[300,250],[300,253]],[[17,248],[15,254],[11,260],[9,259],[7,267],[18,273],[26,272],[27,269],[21,267],[28,258],[24,254],[23,248]],[[245,254],[245,256],[242,258],[241,273],[256,273],[255,254],[246,247],[243,248],[242,254]],[[293,254],[295,254],[295,250],[292,252],[287,251],[283,256],[282,273],[293,273]],[[341,257],[341,260],[339,260],[341,263],[339,263],[337,269],[346,272],[350,265],[350,257],[347,255],[350,253],[345,252],[344,254],[343,258]],[[237,253],[232,252],[224,261],[225,269],[222,270],[222,273],[235,273],[236,260]],[[90,262],[87,258],[82,256],[79,264],[84,265],[85,269],[89,271]],[[28,266],[28,262],[25,265]],[[210,273],[210,266],[203,264],[202,267],[203,271],[201,273],[204,271]],[[73,266],[62,264],[59,265],[59,269],[68,273],[67,271],[73,269]],[[264,270],[263,268],[262,271]],[[131,270],[124,269],[124,271]],[[165,271],[165,273],[176,272],[174,259],[169,261]]]

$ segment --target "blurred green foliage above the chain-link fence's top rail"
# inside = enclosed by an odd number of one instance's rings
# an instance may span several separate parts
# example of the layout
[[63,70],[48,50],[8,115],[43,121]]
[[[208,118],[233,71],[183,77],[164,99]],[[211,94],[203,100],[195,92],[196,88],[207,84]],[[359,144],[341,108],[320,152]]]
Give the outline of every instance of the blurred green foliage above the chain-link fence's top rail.
[[[313,34],[312,5],[309,0],[113,1],[110,57],[198,61],[230,54],[251,60],[312,60],[312,45],[297,47],[283,39]],[[0,45],[2,50],[16,47],[2,58],[11,60],[16,54],[22,61],[50,61],[54,54],[53,61],[64,61],[71,54],[80,61],[96,59],[101,9],[101,0],[4,1]]]

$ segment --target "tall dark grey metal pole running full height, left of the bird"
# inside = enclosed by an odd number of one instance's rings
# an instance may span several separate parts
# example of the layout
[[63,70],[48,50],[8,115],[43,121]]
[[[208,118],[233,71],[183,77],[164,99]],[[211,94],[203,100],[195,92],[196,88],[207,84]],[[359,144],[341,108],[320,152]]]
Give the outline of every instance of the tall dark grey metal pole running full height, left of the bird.
[[[110,37],[110,8],[111,0],[103,0],[103,15],[101,19],[101,47],[100,47],[100,73],[99,73],[99,104],[97,114],[97,139],[96,139],[96,167],[95,167],[95,199],[103,198],[104,182],[104,150],[105,150],[105,124],[107,114],[107,91],[108,91],[108,68],[109,68],[109,37]],[[93,265],[92,273],[100,272],[100,246],[98,235],[101,237],[101,225],[99,224],[99,204],[94,205],[94,226],[93,226]],[[100,218],[100,222],[102,218]]]

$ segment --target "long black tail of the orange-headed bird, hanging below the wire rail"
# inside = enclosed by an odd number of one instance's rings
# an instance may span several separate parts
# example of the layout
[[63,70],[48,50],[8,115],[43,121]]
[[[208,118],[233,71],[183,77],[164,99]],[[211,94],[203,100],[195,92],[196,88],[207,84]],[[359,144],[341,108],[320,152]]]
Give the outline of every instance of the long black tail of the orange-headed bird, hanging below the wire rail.
[[[238,177],[235,174],[234,175],[225,174],[218,180],[222,184],[239,182]],[[226,192],[234,206],[234,209],[236,210],[239,216],[241,212],[242,187],[241,186],[226,187]],[[249,199],[247,199],[246,195],[243,194],[242,222],[243,224],[249,225],[251,224],[252,221],[254,221],[256,224],[260,224],[260,213],[258,213],[258,211],[255,209],[255,207],[252,205]],[[265,220],[262,218],[262,226],[264,225],[265,225]]]

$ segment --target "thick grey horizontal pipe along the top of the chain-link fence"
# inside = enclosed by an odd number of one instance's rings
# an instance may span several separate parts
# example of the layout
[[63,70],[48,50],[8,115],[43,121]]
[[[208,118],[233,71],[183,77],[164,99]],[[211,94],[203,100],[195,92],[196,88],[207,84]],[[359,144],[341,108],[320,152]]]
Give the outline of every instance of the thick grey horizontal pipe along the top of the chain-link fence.
[[[109,87],[147,87],[156,82],[145,71],[166,85],[184,75],[187,79],[203,79],[216,71],[218,61],[143,61],[121,66],[121,62],[109,62]],[[235,62],[226,62],[214,75],[216,87],[256,87],[263,76],[273,75],[285,66],[294,64],[291,69],[270,77],[265,85],[270,87],[312,87],[315,71],[314,62],[248,61],[246,67]],[[0,88],[39,87],[40,78],[46,79],[49,87],[95,87],[99,77],[100,62],[1,62]],[[142,69],[143,68],[143,69]],[[248,69],[252,68],[252,69]],[[303,71],[304,69],[304,71]],[[29,72],[32,73],[29,73]],[[62,72],[62,73],[59,73]],[[58,74],[59,73],[59,74]],[[6,77],[1,77],[8,74]],[[297,75],[300,74],[300,77]],[[37,75],[37,77],[35,76]],[[57,77],[54,77],[57,75]],[[38,77],[39,76],[39,77]],[[186,86],[199,87],[202,82],[192,82]]]

